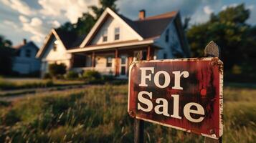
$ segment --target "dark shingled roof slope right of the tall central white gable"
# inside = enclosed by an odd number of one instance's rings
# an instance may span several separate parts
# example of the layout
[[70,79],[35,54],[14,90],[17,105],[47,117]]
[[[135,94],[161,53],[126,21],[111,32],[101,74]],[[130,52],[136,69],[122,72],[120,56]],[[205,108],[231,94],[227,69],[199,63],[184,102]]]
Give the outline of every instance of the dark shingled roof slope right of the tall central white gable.
[[154,38],[160,36],[166,26],[170,23],[172,19],[176,16],[177,11],[171,11],[165,14],[160,14],[156,16],[149,16],[145,19],[139,19],[132,21],[127,17],[118,14],[123,21],[125,21],[131,28],[133,28],[138,34],[140,34],[143,39]]

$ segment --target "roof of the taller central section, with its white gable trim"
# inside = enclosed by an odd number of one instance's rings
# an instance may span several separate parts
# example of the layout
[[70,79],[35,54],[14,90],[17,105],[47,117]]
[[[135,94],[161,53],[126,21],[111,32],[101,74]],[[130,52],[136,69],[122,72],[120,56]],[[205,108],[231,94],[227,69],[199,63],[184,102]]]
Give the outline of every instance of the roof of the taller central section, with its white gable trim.
[[100,16],[96,24],[93,26],[93,29],[90,33],[85,37],[85,40],[82,41],[80,47],[85,47],[90,41],[93,39],[93,36],[98,31],[100,26],[103,24],[108,16],[113,16],[114,19],[119,20],[121,23],[125,24],[127,28],[131,29],[134,34],[137,35],[138,40],[144,39],[156,39],[160,36],[166,26],[171,22],[172,19],[176,17],[178,11],[171,11],[165,14],[159,14],[156,16],[148,16],[145,19],[131,20],[122,14],[117,14],[115,11],[111,9],[105,9],[103,14]]

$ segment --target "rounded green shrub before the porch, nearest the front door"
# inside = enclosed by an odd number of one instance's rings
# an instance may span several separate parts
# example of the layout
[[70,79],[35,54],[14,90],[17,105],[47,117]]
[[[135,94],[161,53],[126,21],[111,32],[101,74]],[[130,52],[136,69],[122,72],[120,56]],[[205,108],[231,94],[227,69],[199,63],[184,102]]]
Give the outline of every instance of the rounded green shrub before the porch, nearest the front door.
[[101,74],[95,70],[87,70],[82,74],[82,79],[88,84],[102,84]]

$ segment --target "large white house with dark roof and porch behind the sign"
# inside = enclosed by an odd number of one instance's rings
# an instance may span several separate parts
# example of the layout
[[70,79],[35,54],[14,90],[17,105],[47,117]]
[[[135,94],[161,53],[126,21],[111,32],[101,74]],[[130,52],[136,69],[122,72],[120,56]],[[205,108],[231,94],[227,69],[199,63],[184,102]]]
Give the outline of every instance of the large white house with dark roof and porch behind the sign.
[[72,34],[61,38],[52,29],[37,54],[42,58],[42,71],[47,72],[47,64],[51,62],[62,62],[73,71],[94,69],[126,78],[128,65],[138,51],[143,51],[143,59],[147,60],[189,57],[178,11],[145,15],[142,10],[139,19],[132,21],[105,9],[84,39]]

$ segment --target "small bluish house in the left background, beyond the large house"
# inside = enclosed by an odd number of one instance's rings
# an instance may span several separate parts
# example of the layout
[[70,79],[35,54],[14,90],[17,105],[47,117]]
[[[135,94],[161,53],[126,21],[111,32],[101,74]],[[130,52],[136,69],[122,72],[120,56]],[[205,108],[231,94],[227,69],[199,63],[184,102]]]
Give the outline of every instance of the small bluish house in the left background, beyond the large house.
[[39,48],[33,41],[27,42],[26,39],[23,43],[13,46],[15,56],[13,60],[12,70],[19,74],[32,74],[40,71],[41,61],[36,58]]

